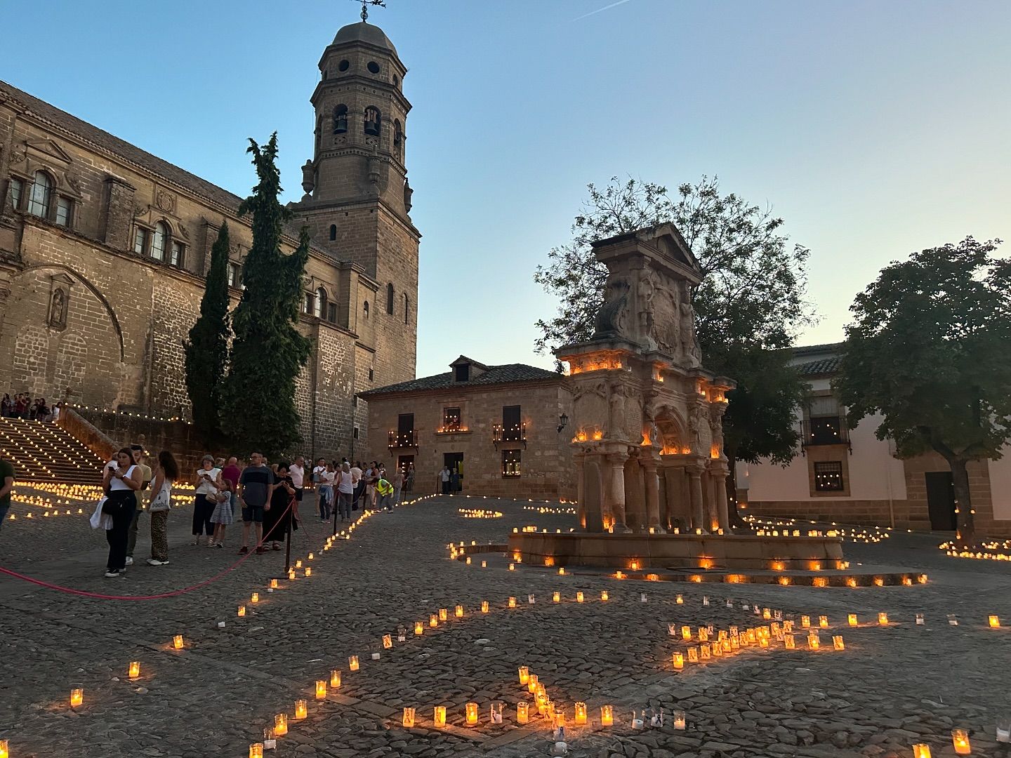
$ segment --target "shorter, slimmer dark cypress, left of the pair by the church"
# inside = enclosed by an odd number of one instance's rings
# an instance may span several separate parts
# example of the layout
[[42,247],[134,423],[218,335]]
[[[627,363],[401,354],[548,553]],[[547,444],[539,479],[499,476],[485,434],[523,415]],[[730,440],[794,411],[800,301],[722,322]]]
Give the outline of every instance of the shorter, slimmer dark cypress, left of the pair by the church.
[[193,427],[207,444],[221,439],[221,384],[228,361],[228,224],[222,223],[210,249],[210,268],[200,299],[200,316],[183,343],[186,392]]

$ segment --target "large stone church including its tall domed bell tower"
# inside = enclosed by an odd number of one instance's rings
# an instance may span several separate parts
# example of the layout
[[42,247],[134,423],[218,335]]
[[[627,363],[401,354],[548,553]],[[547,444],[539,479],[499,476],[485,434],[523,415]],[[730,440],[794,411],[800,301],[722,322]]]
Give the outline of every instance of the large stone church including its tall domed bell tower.
[[[364,445],[355,393],[415,376],[421,235],[408,215],[405,74],[381,29],[353,23],[324,51],[310,98],[315,147],[284,250],[307,225],[299,327],[314,349],[297,407],[313,453]],[[241,295],[241,200],[0,82],[0,386],[185,417],[182,342],[225,220],[233,304]]]

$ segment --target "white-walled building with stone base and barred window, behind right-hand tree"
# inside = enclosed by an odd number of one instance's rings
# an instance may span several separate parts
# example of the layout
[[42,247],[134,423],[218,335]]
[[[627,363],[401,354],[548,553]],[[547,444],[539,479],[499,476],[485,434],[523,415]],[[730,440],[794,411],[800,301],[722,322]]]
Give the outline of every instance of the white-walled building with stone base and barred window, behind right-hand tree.
[[[802,455],[786,467],[738,464],[742,512],[953,532],[951,470],[940,455],[900,460],[895,443],[875,435],[880,415],[847,428],[831,386],[841,349],[835,343],[794,350],[792,363],[811,386],[797,416]],[[968,468],[977,532],[1011,534],[1011,449]]]

